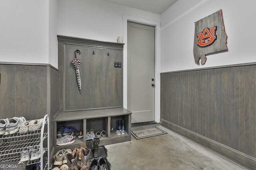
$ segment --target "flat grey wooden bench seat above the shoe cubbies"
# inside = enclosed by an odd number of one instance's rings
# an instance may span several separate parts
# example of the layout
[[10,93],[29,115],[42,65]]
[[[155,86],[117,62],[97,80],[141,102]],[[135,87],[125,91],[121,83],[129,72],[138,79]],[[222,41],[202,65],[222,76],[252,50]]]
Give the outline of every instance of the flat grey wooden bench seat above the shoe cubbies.
[[93,109],[93,110],[81,110],[81,111],[66,111],[58,113],[58,115],[53,119],[53,121],[71,121],[80,119],[92,119],[100,117],[111,117],[118,115],[129,115],[132,114],[131,111],[125,109],[124,107],[109,108],[109,109]]

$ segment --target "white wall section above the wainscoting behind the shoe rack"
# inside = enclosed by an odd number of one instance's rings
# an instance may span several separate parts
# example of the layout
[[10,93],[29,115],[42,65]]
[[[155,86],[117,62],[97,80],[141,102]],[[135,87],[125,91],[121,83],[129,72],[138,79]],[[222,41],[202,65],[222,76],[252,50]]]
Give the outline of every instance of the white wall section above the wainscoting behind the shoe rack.
[[0,0],[0,62],[49,63],[48,0]]

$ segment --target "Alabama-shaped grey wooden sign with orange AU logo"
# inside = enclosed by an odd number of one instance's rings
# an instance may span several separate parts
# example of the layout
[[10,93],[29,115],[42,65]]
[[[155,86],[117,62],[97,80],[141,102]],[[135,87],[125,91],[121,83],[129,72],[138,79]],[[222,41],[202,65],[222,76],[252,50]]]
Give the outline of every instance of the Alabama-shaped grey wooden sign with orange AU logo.
[[206,55],[228,50],[222,10],[195,22],[194,58],[205,64]]

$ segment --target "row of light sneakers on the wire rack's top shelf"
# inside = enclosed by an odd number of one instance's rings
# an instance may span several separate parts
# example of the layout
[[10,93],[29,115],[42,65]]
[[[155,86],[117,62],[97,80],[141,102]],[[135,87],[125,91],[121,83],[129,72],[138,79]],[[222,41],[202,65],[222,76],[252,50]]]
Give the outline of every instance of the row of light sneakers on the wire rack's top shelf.
[[26,121],[25,117],[13,117],[11,119],[0,119],[0,135],[14,134],[19,131],[20,134],[33,132],[39,129],[44,119]]

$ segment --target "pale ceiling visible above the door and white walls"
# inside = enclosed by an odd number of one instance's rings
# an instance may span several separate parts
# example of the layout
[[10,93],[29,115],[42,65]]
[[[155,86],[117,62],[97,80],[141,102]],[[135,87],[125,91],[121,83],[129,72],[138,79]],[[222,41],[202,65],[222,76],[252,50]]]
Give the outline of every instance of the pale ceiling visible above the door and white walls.
[[131,8],[136,8],[138,10],[143,10],[147,12],[152,12],[155,14],[162,14],[167,10],[172,4],[177,0],[103,0],[106,2],[112,2],[114,4],[128,6]]

